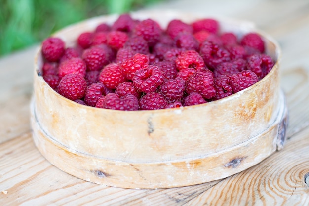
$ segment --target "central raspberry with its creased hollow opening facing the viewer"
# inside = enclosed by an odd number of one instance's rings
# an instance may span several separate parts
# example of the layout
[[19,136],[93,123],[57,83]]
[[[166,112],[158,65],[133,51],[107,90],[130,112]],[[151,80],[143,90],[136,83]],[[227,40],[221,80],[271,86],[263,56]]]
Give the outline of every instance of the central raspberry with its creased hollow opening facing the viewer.
[[164,73],[158,66],[149,65],[138,70],[132,78],[134,86],[142,92],[154,92],[164,81]]

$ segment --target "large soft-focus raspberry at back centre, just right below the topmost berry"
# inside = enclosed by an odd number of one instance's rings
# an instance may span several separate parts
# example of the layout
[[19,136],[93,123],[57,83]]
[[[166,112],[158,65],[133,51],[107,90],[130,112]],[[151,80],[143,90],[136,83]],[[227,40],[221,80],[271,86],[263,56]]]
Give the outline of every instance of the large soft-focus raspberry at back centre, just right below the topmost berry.
[[162,29],[154,20],[146,19],[135,26],[134,33],[137,36],[142,36],[149,46],[154,46],[160,39]]

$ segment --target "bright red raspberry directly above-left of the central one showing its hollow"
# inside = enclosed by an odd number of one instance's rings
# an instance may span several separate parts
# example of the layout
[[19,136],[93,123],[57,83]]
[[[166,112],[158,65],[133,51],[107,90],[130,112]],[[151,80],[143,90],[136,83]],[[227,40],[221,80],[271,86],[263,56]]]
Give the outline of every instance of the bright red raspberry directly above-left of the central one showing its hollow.
[[132,80],[136,71],[148,67],[149,59],[147,55],[135,54],[132,58],[126,59],[121,64],[121,69],[128,80]]

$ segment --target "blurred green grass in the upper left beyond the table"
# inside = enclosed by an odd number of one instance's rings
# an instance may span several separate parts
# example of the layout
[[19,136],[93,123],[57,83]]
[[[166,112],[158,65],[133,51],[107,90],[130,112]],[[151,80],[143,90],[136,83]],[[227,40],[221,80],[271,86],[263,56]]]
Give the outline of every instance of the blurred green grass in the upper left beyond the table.
[[42,41],[93,16],[123,13],[159,0],[0,0],[0,56]]

